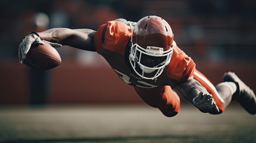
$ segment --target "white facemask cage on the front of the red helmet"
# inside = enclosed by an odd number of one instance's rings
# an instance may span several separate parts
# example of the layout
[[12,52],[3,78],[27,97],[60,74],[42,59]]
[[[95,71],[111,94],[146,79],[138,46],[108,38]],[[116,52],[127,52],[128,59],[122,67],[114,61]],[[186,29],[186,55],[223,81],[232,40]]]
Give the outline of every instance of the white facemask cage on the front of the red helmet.
[[[173,47],[169,47],[167,51],[164,48],[156,46],[147,46],[146,49],[138,44],[132,44],[130,49],[130,64],[141,78],[156,79],[162,74],[164,68],[170,63],[173,55]],[[151,77],[149,77],[149,73]],[[153,76],[152,76],[153,75]]]

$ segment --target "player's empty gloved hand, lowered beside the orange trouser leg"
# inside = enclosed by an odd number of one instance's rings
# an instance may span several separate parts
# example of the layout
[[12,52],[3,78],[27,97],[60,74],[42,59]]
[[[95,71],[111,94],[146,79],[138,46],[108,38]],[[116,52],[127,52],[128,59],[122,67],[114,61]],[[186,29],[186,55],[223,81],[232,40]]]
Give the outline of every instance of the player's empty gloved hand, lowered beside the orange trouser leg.
[[212,108],[214,108],[217,112],[220,112],[216,102],[212,98],[212,95],[203,95],[203,92],[200,92],[199,95],[193,99],[193,105],[204,113],[210,112]]

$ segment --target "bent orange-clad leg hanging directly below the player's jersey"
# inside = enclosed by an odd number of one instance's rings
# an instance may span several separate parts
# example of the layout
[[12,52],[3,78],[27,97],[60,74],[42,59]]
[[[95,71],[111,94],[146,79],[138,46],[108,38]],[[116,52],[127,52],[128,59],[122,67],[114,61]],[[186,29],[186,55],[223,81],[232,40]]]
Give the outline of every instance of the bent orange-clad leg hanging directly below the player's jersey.
[[171,89],[171,86],[134,87],[134,89],[143,101],[149,106],[159,108],[166,117],[173,117],[180,110],[180,97]]

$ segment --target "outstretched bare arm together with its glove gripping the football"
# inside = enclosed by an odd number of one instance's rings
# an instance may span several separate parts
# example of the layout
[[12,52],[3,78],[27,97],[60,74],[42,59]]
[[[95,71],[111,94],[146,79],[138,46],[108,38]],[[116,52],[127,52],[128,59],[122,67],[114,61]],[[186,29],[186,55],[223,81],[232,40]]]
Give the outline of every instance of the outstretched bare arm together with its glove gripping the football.
[[83,50],[96,51],[93,40],[95,32],[92,29],[54,28],[38,33],[28,33],[18,48],[20,64],[26,58],[31,44],[44,44],[42,40],[47,41],[53,47],[68,45]]

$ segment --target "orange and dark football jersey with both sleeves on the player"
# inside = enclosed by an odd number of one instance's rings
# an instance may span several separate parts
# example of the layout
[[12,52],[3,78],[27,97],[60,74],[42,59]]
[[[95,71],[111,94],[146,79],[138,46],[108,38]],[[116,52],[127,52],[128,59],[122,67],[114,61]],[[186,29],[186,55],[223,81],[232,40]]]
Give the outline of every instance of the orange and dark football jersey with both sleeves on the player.
[[166,66],[164,72],[156,80],[142,79],[130,68],[128,59],[130,37],[130,26],[117,21],[103,24],[94,35],[97,52],[108,61],[127,84],[143,88],[160,85],[175,86],[193,75],[195,63],[180,48],[174,46],[171,62]]

